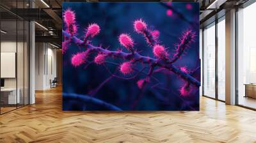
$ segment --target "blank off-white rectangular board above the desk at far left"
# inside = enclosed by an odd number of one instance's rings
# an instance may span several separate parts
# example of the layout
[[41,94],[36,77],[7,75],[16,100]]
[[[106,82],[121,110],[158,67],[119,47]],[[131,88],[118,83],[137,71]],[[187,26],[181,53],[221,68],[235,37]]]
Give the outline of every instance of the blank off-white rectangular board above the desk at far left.
[[1,52],[1,78],[15,78],[16,53]]

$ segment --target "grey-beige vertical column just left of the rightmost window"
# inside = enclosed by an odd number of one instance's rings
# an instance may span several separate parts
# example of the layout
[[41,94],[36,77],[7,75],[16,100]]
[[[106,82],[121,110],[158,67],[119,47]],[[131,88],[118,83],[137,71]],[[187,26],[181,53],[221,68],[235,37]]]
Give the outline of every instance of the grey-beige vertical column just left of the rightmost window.
[[226,103],[236,104],[236,10],[226,12]]

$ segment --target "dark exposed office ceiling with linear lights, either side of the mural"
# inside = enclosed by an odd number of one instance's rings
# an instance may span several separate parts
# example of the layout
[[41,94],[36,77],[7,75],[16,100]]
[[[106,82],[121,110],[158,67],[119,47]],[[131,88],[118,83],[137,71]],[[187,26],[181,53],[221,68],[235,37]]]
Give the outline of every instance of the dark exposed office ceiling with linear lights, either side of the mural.
[[[0,1],[1,19],[11,21],[20,17],[25,20],[35,20],[36,24],[36,41],[61,42],[61,3],[63,1],[76,2],[76,0],[33,0],[35,8],[29,8],[29,0],[26,1]],[[82,0],[86,1],[86,0]],[[91,0],[97,1],[97,0]],[[104,1],[104,0],[103,0]],[[106,0],[109,1],[109,0]],[[112,0],[116,1],[116,0]],[[131,0],[129,0],[131,1]],[[136,1],[136,0],[134,0]],[[137,0],[138,1],[138,0]],[[155,0],[153,0],[155,1]],[[179,1],[181,0],[173,0]],[[200,3],[200,24],[204,26],[209,19],[221,10],[228,10],[248,0],[184,0],[186,2]],[[30,6],[31,7],[31,6]],[[224,11],[225,14],[225,11]],[[207,21],[208,20],[208,21]],[[214,19],[213,19],[214,20]],[[7,24],[8,25],[8,24]],[[43,27],[42,27],[43,26]],[[46,27],[48,30],[45,30]],[[12,29],[12,24],[10,24]],[[51,31],[49,33],[49,31]],[[56,42],[61,45],[60,42]]]

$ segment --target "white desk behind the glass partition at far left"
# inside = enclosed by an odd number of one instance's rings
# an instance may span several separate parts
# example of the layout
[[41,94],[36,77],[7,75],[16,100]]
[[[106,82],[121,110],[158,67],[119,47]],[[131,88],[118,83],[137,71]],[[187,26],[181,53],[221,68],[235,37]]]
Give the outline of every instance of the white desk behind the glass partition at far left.
[[[16,88],[3,88],[3,89],[1,89],[1,100],[2,100],[2,97],[3,97],[2,101],[5,104],[20,103],[20,89],[18,88],[17,91],[18,91],[18,94],[17,94],[17,98],[16,98]],[[8,98],[8,100],[7,99],[5,100],[4,98]]]

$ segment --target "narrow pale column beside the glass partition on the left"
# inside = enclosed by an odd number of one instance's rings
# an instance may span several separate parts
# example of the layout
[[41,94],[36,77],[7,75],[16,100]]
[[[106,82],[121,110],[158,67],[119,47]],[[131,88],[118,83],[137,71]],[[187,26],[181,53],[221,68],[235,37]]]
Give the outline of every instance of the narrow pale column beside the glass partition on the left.
[[[33,1],[29,7],[34,8]],[[29,104],[35,103],[35,22],[29,22]]]

